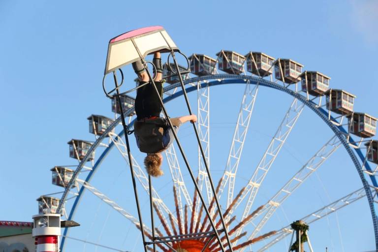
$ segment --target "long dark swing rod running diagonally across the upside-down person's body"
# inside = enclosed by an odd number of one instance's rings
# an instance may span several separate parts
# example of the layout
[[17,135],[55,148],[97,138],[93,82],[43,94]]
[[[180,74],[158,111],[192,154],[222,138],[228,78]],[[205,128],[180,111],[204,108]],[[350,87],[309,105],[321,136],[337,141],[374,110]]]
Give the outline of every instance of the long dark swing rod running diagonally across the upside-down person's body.
[[[151,73],[150,73],[150,71],[148,70],[148,67],[146,66],[146,63],[145,63],[145,61],[144,61],[143,59],[142,59],[142,63],[143,63],[143,66],[144,66],[144,68],[145,68],[145,70],[146,70],[146,72],[147,72],[147,74],[148,74],[148,77],[150,78],[151,85],[154,86],[155,92],[156,92],[156,94],[158,95],[158,99],[159,99],[159,102],[160,102],[161,108],[162,108],[162,110],[163,110],[164,116],[165,116],[166,120],[168,121],[169,126],[170,126],[171,128],[174,128],[173,125],[172,125],[171,119],[169,118],[168,113],[167,113],[167,111],[166,111],[166,109],[165,109],[165,107],[164,107],[164,103],[163,103],[163,100],[162,100],[161,97],[160,97],[160,94],[159,94],[158,88],[157,88],[156,85],[155,85],[155,81],[154,81],[154,79],[152,78]],[[176,61],[175,61],[175,63],[176,63]],[[176,63],[176,64],[177,64],[177,63]],[[176,68],[176,69],[177,69],[177,68]],[[181,75],[179,75],[179,76],[181,77]],[[181,78],[181,81],[182,81],[182,78]],[[195,128],[195,126],[194,126],[194,128]],[[215,227],[214,221],[212,220],[212,217],[211,217],[211,215],[210,215],[210,213],[209,213],[209,209],[207,209],[207,207],[206,207],[206,205],[205,205],[205,200],[203,199],[202,194],[201,194],[201,191],[200,191],[200,189],[199,189],[199,187],[198,187],[198,184],[197,184],[197,182],[195,181],[194,174],[193,174],[193,172],[192,172],[192,170],[191,170],[191,168],[190,168],[190,165],[189,165],[188,159],[187,159],[187,157],[186,157],[186,155],[185,155],[185,153],[184,153],[184,150],[183,150],[183,148],[182,148],[182,146],[181,146],[181,144],[180,144],[180,140],[179,140],[179,138],[177,137],[177,134],[176,134],[175,130],[172,130],[172,133],[173,133],[173,136],[175,137],[175,140],[176,140],[177,146],[178,146],[179,149],[180,149],[181,155],[183,156],[184,162],[185,162],[185,164],[186,164],[186,166],[187,166],[187,168],[188,168],[189,175],[190,175],[190,177],[191,177],[191,180],[193,181],[194,187],[195,187],[195,189],[197,190],[198,196],[199,196],[199,198],[200,198],[200,200],[201,200],[201,202],[202,202],[202,204],[203,204],[203,206],[204,206],[204,209],[205,209],[206,215],[208,216],[209,221],[210,221],[210,224],[211,224],[211,226],[213,227],[213,230],[214,230],[214,232],[215,232],[215,234],[216,234],[216,236],[217,236],[217,240],[218,240],[218,243],[219,243],[219,245],[220,245],[220,247],[221,247],[221,251],[222,251],[222,252],[225,252],[225,251],[224,251],[224,248],[223,248],[223,245],[222,245],[222,242],[221,242],[221,237],[219,236],[219,234],[218,234],[218,232],[217,232],[217,229],[216,229],[216,227]],[[197,137],[198,137],[198,136],[197,136]],[[215,198],[216,198],[216,197],[215,197]],[[221,212],[220,212],[220,213],[221,213]],[[227,237],[228,237],[228,236],[227,236]],[[232,252],[232,250],[231,250],[231,252]]]

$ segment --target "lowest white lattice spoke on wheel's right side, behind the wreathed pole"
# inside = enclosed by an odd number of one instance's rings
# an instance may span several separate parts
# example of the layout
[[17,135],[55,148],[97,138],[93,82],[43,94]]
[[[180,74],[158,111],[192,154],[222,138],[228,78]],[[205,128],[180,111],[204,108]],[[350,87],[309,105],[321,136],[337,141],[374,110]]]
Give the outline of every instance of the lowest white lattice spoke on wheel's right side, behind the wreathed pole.
[[[374,190],[375,189],[372,188],[372,191],[374,191]],[[350,205],[351,203],[353,203],[353,202],[355,202],[355,201],[357,201],[360,198],[363,198],[365,196],[366,196],[366,192],[365,192],[364,188],[355,190],[355,191],[349,193],[348,195],[332,202],[329,205],[326,205],[326,206],[316,210],[314,213],[311,213],[311,214],[309,214],[309,215],[307,215],[307,216],[305,216],[305,217],[303,217],[299,220],[302,220],[302,221],[306,222],[307,224],[313,223],[313,222],[318,221],[318,220],[322,219],[323,217],[325,217],[325,216],[327,216],[331,213],[338,211],[339,209],[341,209],[341,208],[343,208],[347,205]],[[259,249],[257,252],[265,251],[266,249],[272,247],[274,244],[278,243],[279,241],[284,239],[284,237],[286,237],[287,235],[292,234],[292,233],[293,233],[293,230],[291,229],[290,225],[287,225],[284,228],[281,228],[274,235],[276,238],[274,238],[273,241],[271,241],[270,243],[266,244],[264,247]]]

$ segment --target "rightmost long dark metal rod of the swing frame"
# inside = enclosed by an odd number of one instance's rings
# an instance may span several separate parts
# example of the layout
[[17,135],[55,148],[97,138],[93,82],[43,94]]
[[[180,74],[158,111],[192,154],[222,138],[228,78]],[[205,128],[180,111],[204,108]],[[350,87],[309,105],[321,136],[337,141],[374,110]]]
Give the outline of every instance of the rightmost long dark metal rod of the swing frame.
[[[179,65],[177,64],[176,57],[175,57],[175,54],[174,54],[173,50],[171,51],[171,54],[172,54],[173,62],[175,63],[176,71],[178,73],[178,77],[179,77],[179,80],[180,80],[181,88],[183,90],[185,101],[187,102],[189,114],[192,115],[190,104],[189,104],[188,95],[187,95],[187,92],[186,92],[185,87],[184,87],[184,81],[183,81],[183,78],[182,78],[182,76],[180,74]],[[222,215],[222,211],[221,211],[221,206],[220,206],[219,201],[218,201],[217,192],[215,191],[214,183],[213,183],[213,180],[212,180],[211,175],[210,175],[209,166],[208,166],[207,161],[206,161],[206,156],[205,156],[205,153],[203,151],[201,141],[199,140],[198,131],[197,131],[197,128],[196,128],[195,124],[192,123],[192,125],[193,125],[193,128],[194,128],[195,135],[197,137],[199,149],[201,150],[201,155],[202,155],[203,163],[205,164],[206,172],[207,172],[207,175],[209,177],[209,182],[210,182],[210,185],[211,185],[211,189],[213,191],[214,199],[215,199],[215,202],[217,204],[218,213],[219,213],[219,216],[221,218],[222,226],[223,226],[223,229],[224,229],[224,234],[225,234],[225,237],[226,237],[226,240],[227,240],[227,245],[229,247],[229,251],[233,252],[232,245],[231,245],[231,242],[230,242],[230,238],[229,238],[228,232],[227,232],[227,227],[226,227],[226,224],[225,224],[224,219],[223,219],[223,215]],[[204,204],[204,202],[202,202],[202,204]],[[204,204],[204,206],[205,206],[205,204]],[[205,209],[206,209],[206,207],[205,207]],[[210,216],[209,216],[209,219],[210,219]],[[213,228],[215,229],[215,227],[213,227]]]

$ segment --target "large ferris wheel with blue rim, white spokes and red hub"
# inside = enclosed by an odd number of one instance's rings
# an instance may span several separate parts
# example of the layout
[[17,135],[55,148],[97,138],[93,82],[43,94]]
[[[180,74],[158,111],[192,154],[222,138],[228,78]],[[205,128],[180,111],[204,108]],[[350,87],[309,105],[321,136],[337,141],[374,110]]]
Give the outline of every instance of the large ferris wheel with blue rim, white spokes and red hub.
[[[367,199],[368,211],[372,217],[370,223],[374,234],[369,235],[374,237],[378,248],[378,185],[375,177],[378,171],[378,141],[371,138],[376,133],[377,119],[366,113],[354,112],[354,95],[342,89],[331,88],[330,77],[317,71],[303,70],[303,67],[304,65],[291,59],[276,59],[261,52],[242,55],[221,50],[215,58],[192,54],[188,66],[179,65],[179,70],[183,73],[184,92],[179,77],[175,74],[175,65],[169,60],[164,64],[166,85],[163,101],[167,104],[167,109],[177,109],[180,98],[185,93],[189,94],[191,104],[197,106],[196,127],[199,140],[210,171],[215,180],[218,179],[215,183],[216,191],[234,251],[269,251],[270,248],[282,248],[284,243],[281,241],[290,238],[294,232],[290,223],[295,220],[302,220],[310,225],[314,223],[314,229],[310,232],[321,233],[322,227],[315,228],[317,222],[332,214],[337,215],[339,210],[342,211],[363,198]],[[260,90],[266,90],[267,93],[261,94],[264,91]],[[266,100],[271,90],[281,91],[275,97],[285,96],[282,104],[276,100],[271,103],[271,107],[284,113],[271,118],[269,126],[264,126],[259,122],[266,119],[255,118],[253,115],[258,114],[259,97]],[[284,109],[279,108],[288,99],[289,104]],[[120,101],[125,110],[124,115],[128,117],[128,127],[132,128],[135,121],[134,98],[125,94],[121,95]],[[212,102],[217,105],[212,106]],[[70,243],[83,243],[83,251],[93,251],[91,246],[96,251],[140,251],[142,248],[138,247],[141,243],[138,229],[141,226],[140,219],[136,217],[131,181],[123,173],[128,153],[123,140],[125,131],[120,125],[119,100],[112,98],[111,104],[114,118],[95,114],[87,118],[89,131],[94,135],[92,140],[72,139],[68,142],[69,157],[76,159],[78,164],[73,167],[55,166],[51,169],[53,184],[62,187],[63,192],[42,195],[37,199],[40,212],[48,208],[51,213],[61,213],[67,220],[75,218],[82,224],[79,231],[70,230],[68,233],[67,228],[64,230],[61,250]],[[315,151],[312,155],[307,152],[306,161],[302,161],[301,165],[295,161],[289,164],[297,169],[287,169],[283,173],[275,166],[287,165],[285,162],[289,158],[280,157],[288,155],[284,153],[285,143],[293,137],[293,129],[304,111],[315,112],[311,114],[313,120],[324,123],[330,130],[328,134],[319,134],[316,137],[322,144],[304,144],[304,148],[311,146],[309,149]],[[226,130],[220,127],[226,125],[221,121],[224,115],[228,121],[235,120]],[[221,123],[212,123],[213,120]],[[256,136],[250,137],[249,129],[256,124],[262,127],[257,135],[269,135],[264,138],[268,139],[265,143],[260,143]],[[265,132],[271,125],[276,126],[276,129],[270,133]],[[180,130],[184,132],[180,132],[179,136],[187,133],[185,128]],[[314,129],[309,127],[306,130]],[[201,151],[193,144],[190,134],[182,137],[184,145],[190,150],[189,161],[196,166],[197,184],[204,195],[205,206],[198,199],[198,193],[183,168],[176,146],[171,145],[165,151],[165,175],[155,179],[154,186],[149,184],[148,175],[142,167],[143,157],[134,152],[135,156],[131,157],[131,161],[137,187],[140,189],[138,196],[142,203],[141,213],[145,220],[143,227],[146,236],[152,241],[153,231],[158,233],[161,239],[161,243],[156,244],[158,251],[221,251],[214,237],[210,235],[211,221],[204,212],[205,208],[209,210],[214,217],[216,228],[221,230],[221,220],[216,219],[218,212],[211,178],[206,173],[206,163],[201,158]],[[137,150],[133,139],[130,144],[132,149]],[[328,160],[335,157],[338,149],[343,148],[346,151],[344,156],[337,157],[348,160],[354,166],[358,174],[358,178],[357,175],[354,178],[359,187],[340,189],[336,193],[338,197],[312,210],[306,207],[304,212],[293,214],[295,217],[292,218],[295,219],[271,223],[283,211],[283,207],[285,210],[281,215],[298,212],[297,207],[285,205],[286,202],[292,200],[297,193],[310,195],[311,191],[306,183],[316,176],[316,172]],[[117,161],[112,162],[112,159]],[[125,161],[125,166],[120,165],[119,170],[109,168],[115,163],[119,164],[120,160]],[[223,165],[220,165],[222,161]],[[278,173],[277,177],[273,182],[269,181],[269,176],[274,176],[274,173]],[[264,190],[264,187],[268,189]],[[261,195],[262,190],[264,191]],[[151,221],[146,221],[150,218],[150,194],[154,208],[152,217],[156,222],[154,228]],[[304,201],[304,204],[309,205],[310,202],[312,199]],[[82,231],[84,228],[85,231]],[[190,237],[188,234],[191,233],[196,233],[197,238]],[[202,235],[200,239],[198,234]],[[176,240],[165,247],[164,239],[172,237]],[[224,248],[227,245],[225,239],[225,235],[221,236]]]

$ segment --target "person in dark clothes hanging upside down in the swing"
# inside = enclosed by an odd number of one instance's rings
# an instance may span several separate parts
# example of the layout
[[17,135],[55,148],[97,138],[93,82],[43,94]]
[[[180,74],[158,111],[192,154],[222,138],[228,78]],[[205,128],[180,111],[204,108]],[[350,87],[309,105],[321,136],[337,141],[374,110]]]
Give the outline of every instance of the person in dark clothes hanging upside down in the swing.
[[[153,63],[156,66],[156,72],[154,69],[154,81],[160,98],[162,99],[163,82],[161,80],[163,70],[159,52],[154,54]],[[132,63],[132,67],[138,75],[139,85],[150,81],[141,61]],[[136,122],[134,123],[134,135],[139,150],[143,153],[147,153],[147,157],[144,159],[144,165],[147,173],[153,177],[158,177],[163,174],[160,168],[163,160],[161,152],[168,149],[175,139],[172,132],[173,129],[169,126],[167,120],[160,117],[161,110],[162,107],[159,97],[152,83],[137,90],[135,98]],[[171,118],[175,132],[178,131],[182,124],[189,121],[192,123],[197,122],[197,116],[188,115]]]

